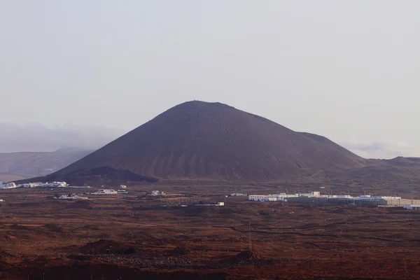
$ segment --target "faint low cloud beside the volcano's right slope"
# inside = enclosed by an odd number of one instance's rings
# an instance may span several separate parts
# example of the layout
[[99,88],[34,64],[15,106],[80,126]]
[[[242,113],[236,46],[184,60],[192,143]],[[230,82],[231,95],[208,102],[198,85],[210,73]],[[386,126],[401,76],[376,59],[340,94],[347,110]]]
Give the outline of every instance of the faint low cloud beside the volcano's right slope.
[[419,157],[420,151],[418,147],[411,146],[403,142],[379,142],[374,141],[365,144],[340,144],[344,148],[349,149],[353,153],[363,158],[382,158],[390,159],[398,156],[403,157]]

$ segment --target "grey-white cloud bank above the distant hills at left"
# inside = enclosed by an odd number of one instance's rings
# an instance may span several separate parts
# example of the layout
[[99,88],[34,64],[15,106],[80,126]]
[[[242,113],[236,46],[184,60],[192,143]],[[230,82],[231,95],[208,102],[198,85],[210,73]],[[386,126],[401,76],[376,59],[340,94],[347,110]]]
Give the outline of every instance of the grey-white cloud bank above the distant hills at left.
[[0,123],[0,153],[55,151],[59,148],[97,149],[125,132],[99,126],[65,124],[45,127],[38,123]]

